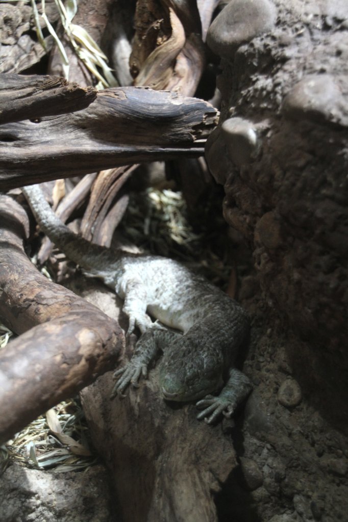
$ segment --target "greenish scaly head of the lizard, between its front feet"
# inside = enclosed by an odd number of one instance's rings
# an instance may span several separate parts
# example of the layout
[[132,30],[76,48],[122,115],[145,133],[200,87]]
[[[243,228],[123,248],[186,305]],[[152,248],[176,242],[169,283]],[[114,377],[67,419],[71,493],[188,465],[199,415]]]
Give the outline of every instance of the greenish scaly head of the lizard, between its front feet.
[[182,336],[164,351],[159,365],[159,384],[165,399],[200,399],[223,386],[221,354],[204,342]]

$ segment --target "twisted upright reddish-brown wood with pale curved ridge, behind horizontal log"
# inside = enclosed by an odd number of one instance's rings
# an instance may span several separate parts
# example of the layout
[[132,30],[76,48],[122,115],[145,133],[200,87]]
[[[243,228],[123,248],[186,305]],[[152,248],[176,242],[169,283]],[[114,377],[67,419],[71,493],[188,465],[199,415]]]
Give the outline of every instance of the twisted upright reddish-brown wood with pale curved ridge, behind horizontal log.
[[135,27],[130,57],[134,85],[193,96],[205,64],[195,0],[140,0]]

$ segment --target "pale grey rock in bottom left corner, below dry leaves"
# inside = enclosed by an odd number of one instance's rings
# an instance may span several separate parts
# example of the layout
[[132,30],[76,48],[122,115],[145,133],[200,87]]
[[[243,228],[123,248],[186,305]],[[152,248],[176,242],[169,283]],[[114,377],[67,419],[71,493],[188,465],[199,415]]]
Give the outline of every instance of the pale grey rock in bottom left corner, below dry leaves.
[[102,466],[56,473],[13,464],[0,490],[1,522],[117,522]]

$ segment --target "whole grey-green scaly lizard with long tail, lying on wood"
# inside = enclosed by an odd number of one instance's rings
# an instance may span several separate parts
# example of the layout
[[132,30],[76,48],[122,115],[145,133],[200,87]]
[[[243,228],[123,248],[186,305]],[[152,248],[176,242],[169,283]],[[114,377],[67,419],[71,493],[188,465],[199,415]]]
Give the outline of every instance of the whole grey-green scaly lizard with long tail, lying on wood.
[[[230,417],[251,390],[249,379],[233,367],[249,330],[241,306],[172,259],[124,254],[89,243],[55,216],[38,185],[22,191],[40,228],[62,252],[124,299],[127,335],[135,326],[142,333],[132,359],[114,373],[118,382],[112,396],[122,396],[129,384],[137,386],[162,351],[159,384],[166,400],[201,399],[196,403],[202,409],[198,418],[207,423],[221,413]],[[182,334],[153,323],[148,314]],[[219,395],[211,395],[219,390]]]

